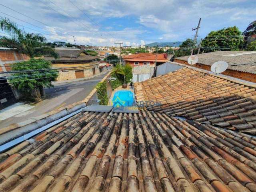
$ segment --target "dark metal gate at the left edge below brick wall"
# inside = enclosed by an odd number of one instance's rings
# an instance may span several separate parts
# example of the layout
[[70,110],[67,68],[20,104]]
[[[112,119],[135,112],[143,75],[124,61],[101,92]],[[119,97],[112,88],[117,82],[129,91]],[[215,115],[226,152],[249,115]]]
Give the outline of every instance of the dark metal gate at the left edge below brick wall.
[[0,78],[0,109],[6,108],[16,103],[16,98],[12,92],[6,78]]

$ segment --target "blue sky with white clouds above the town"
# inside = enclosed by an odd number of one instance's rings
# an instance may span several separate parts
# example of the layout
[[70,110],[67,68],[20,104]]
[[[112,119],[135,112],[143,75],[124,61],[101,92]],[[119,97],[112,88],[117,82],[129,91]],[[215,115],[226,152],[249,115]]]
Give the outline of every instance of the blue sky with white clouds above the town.
[[50,42],[74,43],[75,36],[78,44],[113,46],[114,42],[124,42],[124,45],[140,45],[193,38],[192,28],[197,26],[200,17],[199,38],[205,37],[212,30],[234,25],[244,31],[256,19],[256,2],[2,0],[0,16],[10,18],[27,32],[40,32]]

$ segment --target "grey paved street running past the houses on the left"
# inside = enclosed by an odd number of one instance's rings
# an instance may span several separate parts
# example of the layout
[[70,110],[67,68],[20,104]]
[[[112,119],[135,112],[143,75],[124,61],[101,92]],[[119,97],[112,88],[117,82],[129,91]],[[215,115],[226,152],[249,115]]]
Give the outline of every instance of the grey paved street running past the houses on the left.
[[55,84],[54,88],[48,88],[45,90],[47,97],[45,100],[36,104],[36,106],[30,110],[0,121],[0,128],[6,127],[12,123],[22,122],[29,118],[49,112],[50,110],[58,109],[84,100],[84,98],[86,98],[96,84],[100,82],[108,72],[109,71],[102,72],[96,77],[83,81]]

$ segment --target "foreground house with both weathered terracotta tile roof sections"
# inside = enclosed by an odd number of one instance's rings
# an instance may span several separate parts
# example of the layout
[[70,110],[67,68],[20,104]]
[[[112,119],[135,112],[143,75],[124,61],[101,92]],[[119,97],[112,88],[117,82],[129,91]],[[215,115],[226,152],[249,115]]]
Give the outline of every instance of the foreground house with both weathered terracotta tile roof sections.
[[134,89],[138,103],[161,105],[115,113],[76,104],[2,128],[2,145],[30,137],[0,154],[0,191],[255,191],[255,86],[188,67]]

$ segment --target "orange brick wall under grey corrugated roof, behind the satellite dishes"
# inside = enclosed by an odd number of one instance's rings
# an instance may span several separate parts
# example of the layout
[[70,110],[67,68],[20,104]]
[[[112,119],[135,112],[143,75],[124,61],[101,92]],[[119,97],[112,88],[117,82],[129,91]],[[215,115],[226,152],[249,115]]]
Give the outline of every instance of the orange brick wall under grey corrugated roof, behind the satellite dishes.
[[[191,66],[190,64],[188,64],[188,62],[179,60],[179,59],[175,59],[175,58],[174,58],[174,62]],[[209,65],[195,64],[195,65],[193,65],[193,67],[211,71],[211,66],[209,66]],[[230,69],[227,69],[226,71],[222,72],[221,74],[256,83],[256,74],[240,72],[240,71],[235,71],[235,70],[230,70]]]

